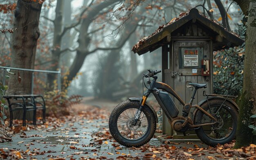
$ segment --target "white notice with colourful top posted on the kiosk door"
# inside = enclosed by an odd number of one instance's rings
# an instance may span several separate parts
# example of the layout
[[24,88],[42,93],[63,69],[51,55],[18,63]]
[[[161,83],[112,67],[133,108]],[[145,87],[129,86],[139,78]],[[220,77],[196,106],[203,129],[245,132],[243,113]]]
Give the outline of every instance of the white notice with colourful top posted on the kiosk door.
[[184,67],[198,66],[198,49],[184,49]]

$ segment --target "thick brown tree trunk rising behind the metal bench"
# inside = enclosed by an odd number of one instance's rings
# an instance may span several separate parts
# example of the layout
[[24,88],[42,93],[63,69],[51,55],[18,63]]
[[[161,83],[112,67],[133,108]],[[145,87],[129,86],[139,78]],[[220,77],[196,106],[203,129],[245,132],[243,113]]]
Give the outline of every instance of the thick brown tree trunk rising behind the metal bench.
[[[38,28],[42,4],[31,1],[30,4],[17,2],[14,11],[11,67],[34,69],[36,44],[40,36]],[[9,80],[9,94],[31,94],[31,74],[28,71],[14,71],[16,75]],[[20,76],[20,77],[18,77]]]

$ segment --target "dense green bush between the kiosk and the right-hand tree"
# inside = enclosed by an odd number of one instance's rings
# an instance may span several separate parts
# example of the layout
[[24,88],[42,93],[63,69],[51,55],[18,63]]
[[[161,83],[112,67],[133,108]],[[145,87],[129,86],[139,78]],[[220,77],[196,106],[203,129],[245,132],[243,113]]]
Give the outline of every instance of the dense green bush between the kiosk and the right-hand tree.
[[213,57],[213,91],[239,95],[243,87],[245,45],[215,52]]

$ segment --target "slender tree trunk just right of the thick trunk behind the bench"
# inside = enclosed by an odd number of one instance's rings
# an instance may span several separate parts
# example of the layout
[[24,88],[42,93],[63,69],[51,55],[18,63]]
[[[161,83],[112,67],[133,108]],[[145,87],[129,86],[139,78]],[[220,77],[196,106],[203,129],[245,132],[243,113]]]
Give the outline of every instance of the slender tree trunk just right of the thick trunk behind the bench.
[[[63,11],[64,11],[64,0],[58,0],[55,9],[54,19],[54,37],[53,37],[53,50],[52,50],[52,62],[51,70],[56,71],[59,68],[59,61],[61,56],[61,40],[63,32]],[[52,87],[53,81],[56,79],[56,74],[47,74],[47,83],[49,87]]]

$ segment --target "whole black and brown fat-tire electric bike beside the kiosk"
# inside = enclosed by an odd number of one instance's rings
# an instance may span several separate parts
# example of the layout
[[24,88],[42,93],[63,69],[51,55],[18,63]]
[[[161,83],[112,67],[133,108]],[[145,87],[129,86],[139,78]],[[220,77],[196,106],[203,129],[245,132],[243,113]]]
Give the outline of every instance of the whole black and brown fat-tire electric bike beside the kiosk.
[[[142,83],[148,89],[142,98],[129,98],[120,103],[110,114],[109,129],[112,137],[126,147],[140,147],[154,136],[158,118],[155,110],[146,100],[152,93],[168,118],[171,127],[176,132],[186,136],[186,131],[195,130],[198,138],[207,145],[225,144],[234,139],[238,123],[238,105],[232,101],[237,96],[206,94],[205,99],[197,105],[192,105],[195,94],[200,88],[207,88],[206,84],[189,83],[195,88],[191,99],[185,103],[180,96],[167,84],[157,82],[157,74],[161,70],[151,71],[143,76]],[[152,80],[151,80],[152,79]],[[183,105],[182,116],[173,99],[173,95]],[[194,108],[190,117],[190,110]]]

